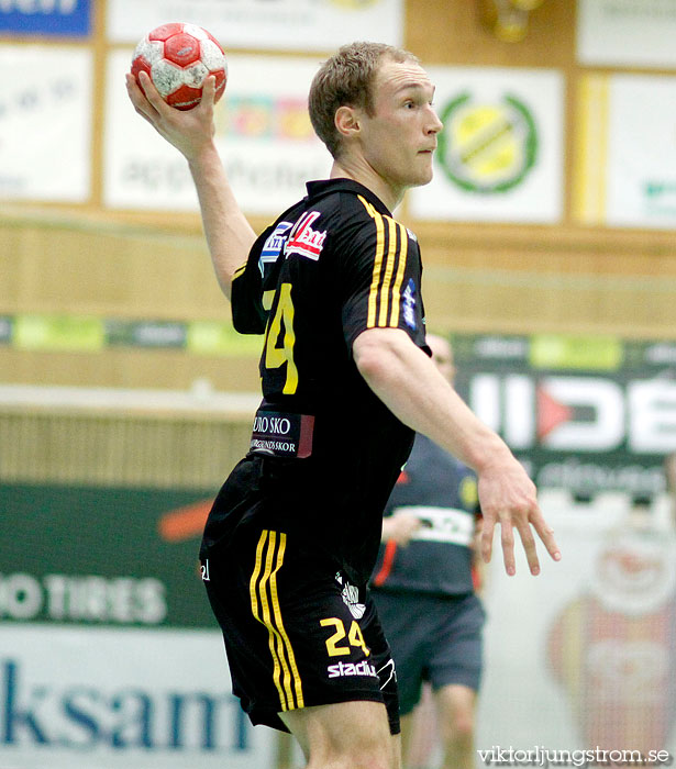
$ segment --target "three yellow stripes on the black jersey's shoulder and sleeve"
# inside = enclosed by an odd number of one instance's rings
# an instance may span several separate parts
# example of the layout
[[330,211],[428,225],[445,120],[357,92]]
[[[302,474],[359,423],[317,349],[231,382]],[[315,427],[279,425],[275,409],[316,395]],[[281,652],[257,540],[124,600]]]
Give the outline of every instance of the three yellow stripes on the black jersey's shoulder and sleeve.
[[[374,271],[368,292],[368,314],[366,316],[366,327],[399,325],[399,294],[403,281],[406,260],[408,255],[408,234],[406,227],[391,216],[385,216],[376,211],[362,196],[357,196],[362,201],[368,215],[376,225],[376,253],[374,257]],[[385,270],[383,270],[383,259],[385,257],[385,223],[387,222],[387,257],[385,259]],[[397,235],[399,234],[399,237]],[[398,247],[399,241],[399,247]],[[396,277],[392,283],[392,275]],[[380,279],[383,278],[383,282]],[[391,304],[391,309],[390,309]],[[388,310],[389,320],[388,320]]]

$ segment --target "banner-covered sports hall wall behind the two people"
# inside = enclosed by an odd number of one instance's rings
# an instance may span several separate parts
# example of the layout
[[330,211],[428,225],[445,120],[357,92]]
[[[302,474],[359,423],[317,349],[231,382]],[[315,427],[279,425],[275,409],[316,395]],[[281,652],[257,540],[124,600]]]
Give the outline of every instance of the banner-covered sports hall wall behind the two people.
[[179,12],[229,55],[217,137],[257,229],[328,171],[304,113],[318,63],[365,36],[421,57],[446,138],[397,216],[458,389],[538,479],[564,549],[538,580],[488,571],[477,747],[674,754],[671,0],[16,0],[0,3],[0,767],[276,761],[229,693],[196,565],[247,444],[259,341],[233,332],[185,163],[123,87],[136,40]]

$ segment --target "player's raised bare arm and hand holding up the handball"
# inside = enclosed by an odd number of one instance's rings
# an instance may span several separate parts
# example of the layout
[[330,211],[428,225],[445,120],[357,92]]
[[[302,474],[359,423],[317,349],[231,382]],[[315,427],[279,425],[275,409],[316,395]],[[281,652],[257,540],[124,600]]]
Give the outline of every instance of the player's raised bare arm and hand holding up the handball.
[[140,77],[143,89],[132,75],[126,76],[129,97],[136,112],[188,160],[211,261],[230,299],[233,275],[246,261],[256,235],[232,192],[213,142],[215,78],[207,78],[200,104],[184,112],[165,103],[145,73]]

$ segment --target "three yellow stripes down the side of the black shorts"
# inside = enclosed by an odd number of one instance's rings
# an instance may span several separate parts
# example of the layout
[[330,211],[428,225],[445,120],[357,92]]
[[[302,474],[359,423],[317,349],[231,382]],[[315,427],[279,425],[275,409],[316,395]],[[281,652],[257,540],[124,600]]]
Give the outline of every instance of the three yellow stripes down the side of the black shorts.
[[[300,675],[291,643],[281,621],[281,609],[277,594],[277,572],[284,564],[286,536],[284,533],[279,534],[279,548],[275,559],[277,532],[268,530],[262,532],[256,547],[256,562],[250,581],[253,615],[261,624],[267,627],[269,634],[268,645],[273,657],[273,680],[279,694],[281,711],[303,707]],[[264,562],[265,568],[263,567]],[[275,562],[274,569],[273,562]]]

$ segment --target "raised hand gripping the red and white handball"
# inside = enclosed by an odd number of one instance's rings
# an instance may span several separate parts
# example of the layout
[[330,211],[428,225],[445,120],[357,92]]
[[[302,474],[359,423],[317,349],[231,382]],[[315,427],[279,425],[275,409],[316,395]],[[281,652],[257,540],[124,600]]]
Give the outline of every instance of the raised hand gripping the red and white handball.
[[213,103],[215,78],[210,76],[202,88],[202,100],[192,110],[177,110],[159,96],[147,73],[138,74],[141,87],[131,73],[126,75],[126,91],[136,112],[189,161],[210,147],[214,134]]

